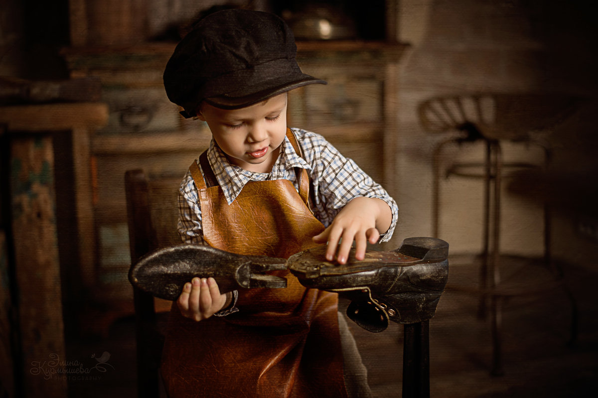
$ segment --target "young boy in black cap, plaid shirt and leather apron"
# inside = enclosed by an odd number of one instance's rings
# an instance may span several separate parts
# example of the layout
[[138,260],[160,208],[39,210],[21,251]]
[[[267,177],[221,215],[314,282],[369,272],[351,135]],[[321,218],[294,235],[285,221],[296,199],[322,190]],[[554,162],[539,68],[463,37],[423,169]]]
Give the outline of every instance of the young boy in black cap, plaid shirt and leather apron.
[[[353,242],[363,259],[368,242],[392,235],[386,191],[323,137],[287,128],[287,92],[325,84],[301,72],[296,51],[282,20],[248,10],[210,14],[176,47],[166,93],[213,138],[179,190],[186,243],[279,258],[328,244],[344,264]],[[337,295],[278,275],[285,289],[185,285],[161,365],[170,398],[369,396]]]

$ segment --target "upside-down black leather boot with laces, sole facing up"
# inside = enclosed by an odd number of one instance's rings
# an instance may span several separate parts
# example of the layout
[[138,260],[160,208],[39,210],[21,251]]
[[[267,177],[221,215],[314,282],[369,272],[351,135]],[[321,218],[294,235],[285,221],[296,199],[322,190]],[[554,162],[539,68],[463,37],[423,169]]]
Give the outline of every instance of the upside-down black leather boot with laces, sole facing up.
[[288,259],[301,284],[349,298],[347,316],[364,329],[382,332],[389,320],[416,323],[434,317],[449,278],[449,244],[407,238],[392,252],[368,251],[362,261],[325,261],[325,247]]

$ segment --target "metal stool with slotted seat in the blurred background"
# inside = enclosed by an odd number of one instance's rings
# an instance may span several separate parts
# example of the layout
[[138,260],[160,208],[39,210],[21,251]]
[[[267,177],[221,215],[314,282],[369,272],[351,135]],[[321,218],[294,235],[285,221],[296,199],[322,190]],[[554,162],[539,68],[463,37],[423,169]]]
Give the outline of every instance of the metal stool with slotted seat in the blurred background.
[[[563,273],[558,262],[551,259],[550,209],[544,206],[544,256],[534,264],[541,265],[553,276],[550,283],[542,286],[517,289],[508,287],[501,280],[501,263],[514,261],[514,256],[501,255],[501,185],[502,180],[517,170],[546,167],[550,162],[550,148],[537,132],[545,131],[563,120],[576,100],[571,97],[538,94],[469,94],[463,96],[434,97],[419,106],[419,118],[423,128],[430,133],[457,133],[441,140],[433,154],[433,203],[432,236],[440,232],[441,175],[460,176],[483,180],[483,248],[481,251],[480,286],[464,289],[480,295],[478,316],[485,318],[490,311],[492,327],[492,375],[502,375],[502,302],[512,296],[529,295],[561,287],[571,304],[572,322],[570,342],[577,335],[577,307],[572,294],[563,283]],[[533,119],[529,115],[533,114]],[[527,118],[526,118],[527,117]],[[502,145],[505,142],[536,146],[544,154],[541,163],[505,162]],[[480,162],[453,161],[444,168],[443,154],[449,145],[472,145],[483,143],[484,160]],[[510,260],[509,260],[510,258]],[[518,259],[518,261],[520,261]],[[530,259],[526,260],[529,264]]]

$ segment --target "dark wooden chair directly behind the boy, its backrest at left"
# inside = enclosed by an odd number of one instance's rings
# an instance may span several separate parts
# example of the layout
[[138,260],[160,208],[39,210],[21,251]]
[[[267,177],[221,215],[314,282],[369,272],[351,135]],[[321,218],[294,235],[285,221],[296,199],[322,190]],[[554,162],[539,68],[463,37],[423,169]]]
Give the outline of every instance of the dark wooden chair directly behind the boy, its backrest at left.
[[[143,170],[125,174],[127,221],[131,264],[152,250],[180,244],[177,190],[181,174],[147,175]],[[170,308],[170,302],[154,299],[133,288],[137,351],[138,396],[160,396],[160,357],[164,342],[158,327],[157,310]]]

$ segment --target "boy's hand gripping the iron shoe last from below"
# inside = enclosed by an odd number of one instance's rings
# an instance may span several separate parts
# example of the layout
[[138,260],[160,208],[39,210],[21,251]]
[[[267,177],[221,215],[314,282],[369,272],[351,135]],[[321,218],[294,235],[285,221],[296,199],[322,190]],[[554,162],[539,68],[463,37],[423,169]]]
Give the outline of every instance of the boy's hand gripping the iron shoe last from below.
[[190,283],[185,283],[176,305],[182,316],[200,321],[222,310],[227,301],[227,295],[220,294],[214,278],[193,278]]

